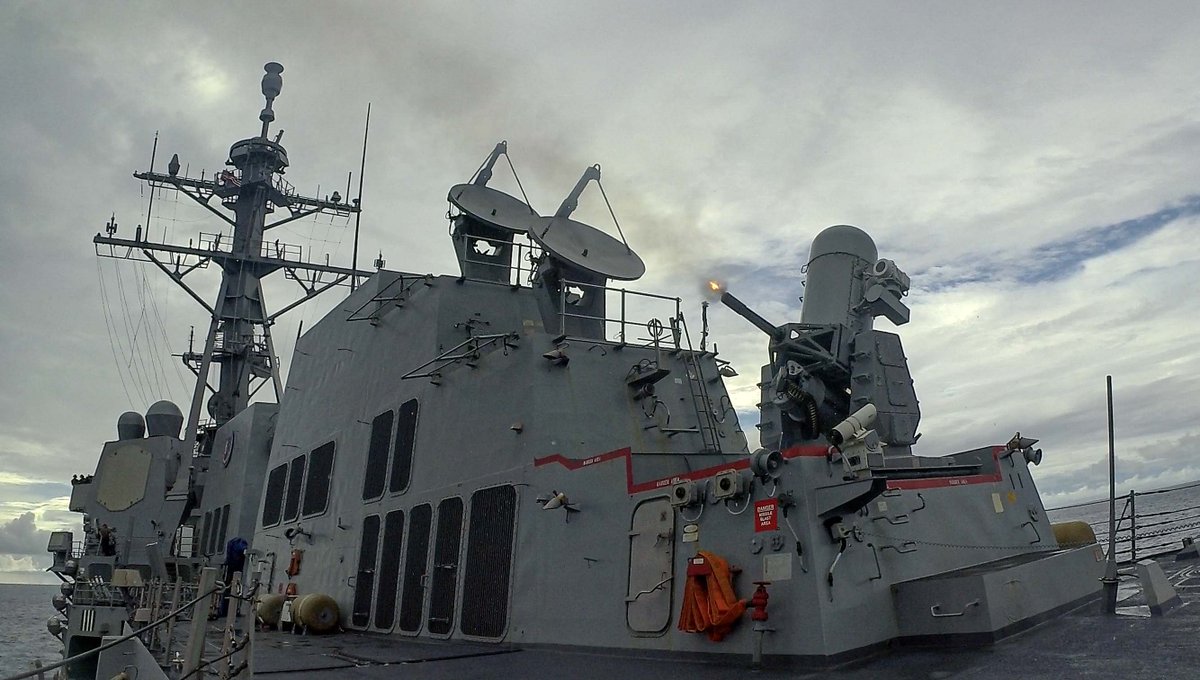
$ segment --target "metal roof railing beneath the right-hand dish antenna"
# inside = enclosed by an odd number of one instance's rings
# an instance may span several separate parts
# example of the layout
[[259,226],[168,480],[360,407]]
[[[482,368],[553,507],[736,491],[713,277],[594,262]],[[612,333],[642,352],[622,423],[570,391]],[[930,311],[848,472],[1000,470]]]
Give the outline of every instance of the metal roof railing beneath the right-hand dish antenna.
[[[572,311],[577,309],[578,302],[588,295],[605,296],[604,315]],[[672,350],[686,349],[682,306],[683,300],[679,297],[564,279],[559,290],[559,333],[568,335],[568,319],[581,319],[604,324],[604,342]],[[616,317],[607,312],[613,308],[617,309]],[[666,317],[667,325],[664,325],[662,317]],[[647,320],[635,321],[632,320],[635,318]]]

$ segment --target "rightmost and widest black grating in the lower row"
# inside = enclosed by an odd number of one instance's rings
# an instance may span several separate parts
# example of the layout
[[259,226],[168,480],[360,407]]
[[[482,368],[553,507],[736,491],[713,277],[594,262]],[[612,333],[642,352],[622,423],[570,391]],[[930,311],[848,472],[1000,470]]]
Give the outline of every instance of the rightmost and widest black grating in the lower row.
[[463,634],[504,636],[509,618],[512,536],[517,492],[511,486],[480,489],[470,495],[470,528],[462,578]]

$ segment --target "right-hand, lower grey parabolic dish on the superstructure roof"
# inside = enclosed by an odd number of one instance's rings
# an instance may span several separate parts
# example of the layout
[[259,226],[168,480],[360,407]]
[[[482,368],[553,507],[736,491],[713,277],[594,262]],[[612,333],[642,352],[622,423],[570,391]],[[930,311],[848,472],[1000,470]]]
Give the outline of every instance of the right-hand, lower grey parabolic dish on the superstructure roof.
[[608,234],[568,217],[542,217],[529,236],[554,258],[619,281],[646,273],[646,264],[629,246]]

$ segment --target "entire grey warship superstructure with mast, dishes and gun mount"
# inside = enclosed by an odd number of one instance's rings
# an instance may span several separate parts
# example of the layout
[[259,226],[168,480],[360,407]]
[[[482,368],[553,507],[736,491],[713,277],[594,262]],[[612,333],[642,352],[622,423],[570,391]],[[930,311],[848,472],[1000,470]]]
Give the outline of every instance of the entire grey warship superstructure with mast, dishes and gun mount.
[[[571,218],[602,191],[599,166],[544,216],[488,186],[498,144],[448,194],[457,273],[305,261],[272,240],[361,205],[283,180],[283,67],[265,70],[260,131],[228,169],[188,177],[175,157],[136,173],[204,206],[224,239],[127,239],[115,222],[94,239],[161,270],[210,325],[182,356],[187,414],[120,415],[73,479],[82,537],[49,546],[66,676],[252,674],[295,633],[446,658],[820,668],[991,643],[1099,596],[1103,550],[1086,525],[1048,519],[1037,440],[914,452],[904,348],[875,327],[908,321],[910,278],[865,231],[816,235],[798,320],[712,284],[767,350],[751,446],[706,317],[689,327],[679,297],[628,288],[646,265],[619,224]],[[209,265],[215,297],[186,278]],[[278,272],[304,294],[270,311],[262,281]],[[284,386],[275,320],[346,288],[298,339]],[[253,401],[264,386],[275,401]],[[210,632],[210,613],[229,625]],[[272,672],[334,668],[292,658]]]

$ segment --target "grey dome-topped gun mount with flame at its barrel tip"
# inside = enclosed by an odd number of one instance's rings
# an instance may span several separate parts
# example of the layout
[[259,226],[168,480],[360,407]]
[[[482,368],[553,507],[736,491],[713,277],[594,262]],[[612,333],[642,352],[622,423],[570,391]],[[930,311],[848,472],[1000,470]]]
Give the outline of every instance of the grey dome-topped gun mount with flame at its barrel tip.
[[770,336],[770,362],[760,383],[762,445],[782,450],[828,441],[840,447],[846,438],[835,426],[874,411],[878,445],[872,452],[911,455],[920,410],[908,362],[898,335],[872,327],[876,317],[898,326],[908,321],[901,301],[908,275],[878,259],[865,231],[845,224],[817,235],[804,271],[799,323],[776,326],[732,293],[721,295],[721,303]]

